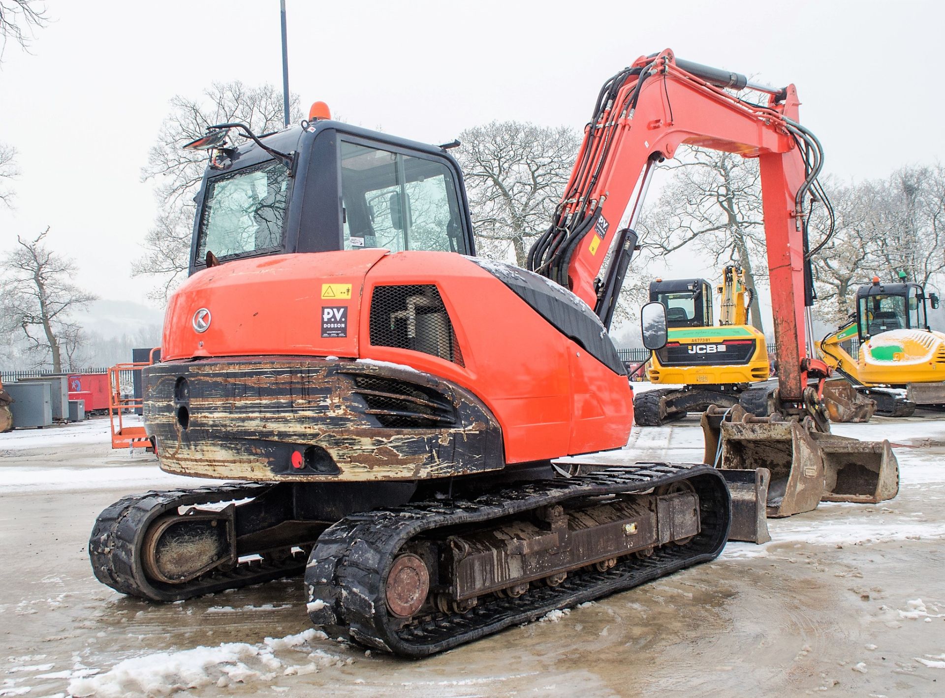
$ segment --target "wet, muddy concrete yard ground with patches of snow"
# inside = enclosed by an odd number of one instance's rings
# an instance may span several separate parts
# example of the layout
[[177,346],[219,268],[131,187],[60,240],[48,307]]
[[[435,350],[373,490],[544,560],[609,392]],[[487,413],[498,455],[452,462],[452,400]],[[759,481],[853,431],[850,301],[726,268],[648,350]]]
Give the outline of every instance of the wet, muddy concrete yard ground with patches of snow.
[[[301,579],[177,604],[102,586],[98,512],[207,481],[112,451],[107,419],[0,434],[0,696],[945,694],[945,418],[834,432],[894,443],[896,499],[769,519],[770,543],[420,661],[325,638]],[[599,457],[701,455],[687,417]]]

